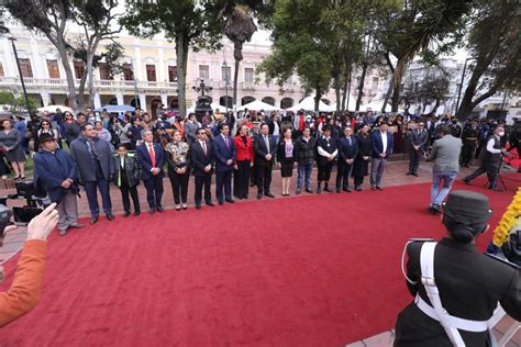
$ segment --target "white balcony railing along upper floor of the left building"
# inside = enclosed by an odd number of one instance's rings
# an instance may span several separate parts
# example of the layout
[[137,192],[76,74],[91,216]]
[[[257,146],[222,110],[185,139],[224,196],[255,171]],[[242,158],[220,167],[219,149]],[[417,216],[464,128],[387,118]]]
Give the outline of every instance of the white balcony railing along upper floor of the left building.
[[[27,88],[30,87],[58,87],[67,88],[67,80],[65,78],[32,78],[24,77],[23,81]],[[75,79],[76,87],[79,87],[79,79]],[[15,87],[20,86],[20,78],[18,77],[0,77],[0,87]],[[128,81],[128,80],[99,80],[95,79],[96,88],[140,88],[140,89],[177,89],[177,82],[149,82],[149,81]]]

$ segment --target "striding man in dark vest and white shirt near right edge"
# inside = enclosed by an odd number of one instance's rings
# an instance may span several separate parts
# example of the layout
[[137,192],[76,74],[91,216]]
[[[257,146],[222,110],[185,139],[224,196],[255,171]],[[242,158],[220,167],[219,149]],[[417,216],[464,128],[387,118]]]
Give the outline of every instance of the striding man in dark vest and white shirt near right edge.
[[463,179],[465,183],[469,184],[473,179],[487,172],[489,182],[488,189],[497,190],[496,184],[498,181],[499,169],[501,167],[501,156],[508,154],[508,152],[502,149],[501,146],[501,137],[503,136],[505,127],[502,125],[496,126],[492,135],[487,138],[486,145],[481,149],[481,165],[476,171]]

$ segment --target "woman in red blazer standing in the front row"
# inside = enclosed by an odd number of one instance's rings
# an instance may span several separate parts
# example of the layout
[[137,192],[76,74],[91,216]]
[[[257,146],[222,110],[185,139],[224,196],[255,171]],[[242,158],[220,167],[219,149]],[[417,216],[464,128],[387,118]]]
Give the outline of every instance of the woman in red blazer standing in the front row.
[[247,135],[247,125],[241,124],[239,127],[239,135],[233,137],[233,143],[235,144],[237,153],[234,165],[234,192],[235,197],[239,199],[247,199],[250,170],[253,166],[253,138]]

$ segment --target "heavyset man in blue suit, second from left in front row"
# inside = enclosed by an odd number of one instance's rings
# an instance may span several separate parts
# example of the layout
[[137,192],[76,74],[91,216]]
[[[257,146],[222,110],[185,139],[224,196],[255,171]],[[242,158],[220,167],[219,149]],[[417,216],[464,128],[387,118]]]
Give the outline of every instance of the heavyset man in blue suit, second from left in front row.
[[114,175],[114,157],[109,142],[97,137],[95,126],[86,123],[81,126],[79,137],[70,143],[70,157],[78,168],[79,182],[85,186],[87,192],[90,224],[96,224],[100,214],[97,189],[100,191],[107,219],[113,221],[109,181]]

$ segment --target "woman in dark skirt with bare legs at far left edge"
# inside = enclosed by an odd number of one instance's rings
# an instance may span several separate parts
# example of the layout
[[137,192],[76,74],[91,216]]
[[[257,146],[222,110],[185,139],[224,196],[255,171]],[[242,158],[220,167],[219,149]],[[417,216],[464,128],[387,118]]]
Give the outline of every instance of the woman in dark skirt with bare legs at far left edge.
[[14,179],[25,179],[25,153],[22,148],[22,136],[20,132],[13,128],[11,120],[2,121],[2,131],[0,131],[0,150],[11,163],[14,170]]

